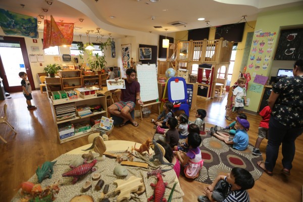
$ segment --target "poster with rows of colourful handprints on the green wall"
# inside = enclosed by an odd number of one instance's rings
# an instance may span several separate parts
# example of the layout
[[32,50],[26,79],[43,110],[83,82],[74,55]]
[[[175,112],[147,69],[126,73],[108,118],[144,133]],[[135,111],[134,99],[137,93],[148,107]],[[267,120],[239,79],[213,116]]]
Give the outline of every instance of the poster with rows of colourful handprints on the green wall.
[[250,62],[248,69],[259,71],[267,70],[273,59],[273,44],[276,32],[256,31],[251,44]]

